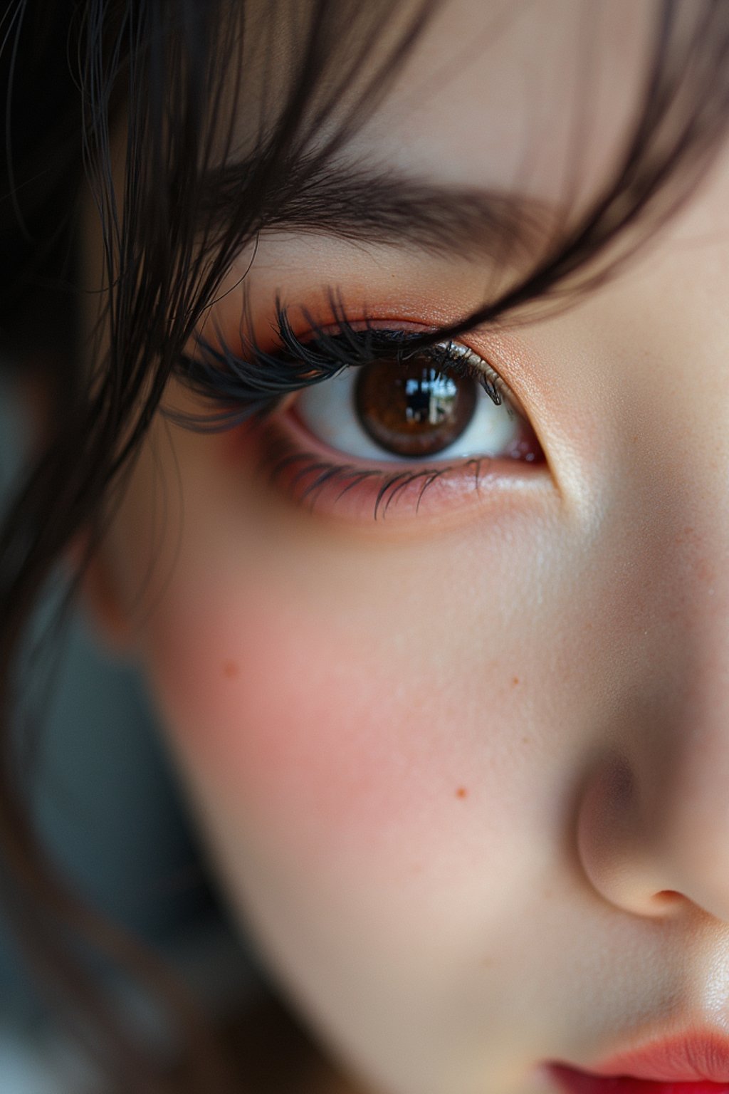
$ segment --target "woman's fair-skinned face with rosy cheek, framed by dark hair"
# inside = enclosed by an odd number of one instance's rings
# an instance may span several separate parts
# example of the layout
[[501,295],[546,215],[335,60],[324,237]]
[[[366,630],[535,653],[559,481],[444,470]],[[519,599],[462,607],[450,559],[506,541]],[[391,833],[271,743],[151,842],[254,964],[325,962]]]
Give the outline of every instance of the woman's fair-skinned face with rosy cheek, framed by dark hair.
[[[579,205],[635,109],[637,7],[448,0],[345,158],[548,209],[577,147]],[[119,613],[242,930],[363,1090],[557,1094],[545,1061],[727,1025],[727,231],[722,153],[568,309],[410,387],[352,369],[261,429],[144,443]],[[334,287],[355,337],[424,330],[509,276],[475,249],[271,234],[251,323],[278,293],[332,333]],[[201,329],[232,344],[242,310]]]

